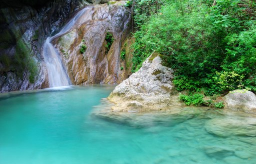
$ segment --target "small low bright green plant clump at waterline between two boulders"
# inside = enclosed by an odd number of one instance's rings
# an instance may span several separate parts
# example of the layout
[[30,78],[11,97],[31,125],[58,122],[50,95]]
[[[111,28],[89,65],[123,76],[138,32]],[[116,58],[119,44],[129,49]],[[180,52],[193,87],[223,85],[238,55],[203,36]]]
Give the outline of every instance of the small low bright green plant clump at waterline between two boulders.
[[180,94],[180,100],[184,101],[186,105],[193,104],[195,106],[200,106],[203,104],[202,94],[184,95]]

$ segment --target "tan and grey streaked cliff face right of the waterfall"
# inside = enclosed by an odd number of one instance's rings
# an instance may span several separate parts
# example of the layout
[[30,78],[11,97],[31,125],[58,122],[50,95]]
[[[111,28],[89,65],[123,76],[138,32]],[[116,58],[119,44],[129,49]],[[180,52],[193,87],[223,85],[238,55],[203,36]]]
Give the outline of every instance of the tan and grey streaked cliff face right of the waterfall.
[[88,6],[74,28],[52,41],[73,84],[120,83],[127,77],[120,52],[131,15],[123,4]]

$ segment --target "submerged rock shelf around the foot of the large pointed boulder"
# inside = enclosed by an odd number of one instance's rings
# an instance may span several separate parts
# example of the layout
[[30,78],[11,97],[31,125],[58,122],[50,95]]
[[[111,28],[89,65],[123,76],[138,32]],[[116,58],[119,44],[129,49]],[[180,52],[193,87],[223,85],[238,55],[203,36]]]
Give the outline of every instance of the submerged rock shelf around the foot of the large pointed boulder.
[[[107,121],[126,124],[133,127],[151,127],[159,124],[164,126],[174,126],[200,114],[204,115],[206,112],[209,112],[204,107],[171,107],[168,110],[161,111],[118,112],[111,110],[113,105],[114,104],[109,102],[106,98],[103,98],[99,105],[94,106],[91,115]],[[182,132],[181,135],[183,137]]]

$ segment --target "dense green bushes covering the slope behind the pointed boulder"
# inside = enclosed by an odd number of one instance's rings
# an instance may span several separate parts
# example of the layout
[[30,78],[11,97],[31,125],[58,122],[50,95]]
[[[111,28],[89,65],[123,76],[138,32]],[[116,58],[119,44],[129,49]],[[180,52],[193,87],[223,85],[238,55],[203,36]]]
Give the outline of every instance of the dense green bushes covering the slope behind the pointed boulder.
[[[135,0],[138,5],[145,1]],[[157,9],[151,4],[137,10],[135,5],[139,29],[134,33],[133,72],[155,50],[164,65],[175,70],[173,83],[179,91],[206,95],[236,88],[256,91],[255,2],[166,0],[160,4]]]

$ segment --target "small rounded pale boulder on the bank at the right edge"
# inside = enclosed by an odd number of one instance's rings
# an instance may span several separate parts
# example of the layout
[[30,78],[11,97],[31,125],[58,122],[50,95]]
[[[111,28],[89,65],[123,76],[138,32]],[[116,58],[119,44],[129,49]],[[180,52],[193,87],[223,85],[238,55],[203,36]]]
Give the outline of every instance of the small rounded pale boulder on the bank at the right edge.
[[256,113],[256,95],[248,90],[233,90],[224,96],[226,107]]

